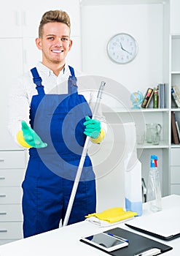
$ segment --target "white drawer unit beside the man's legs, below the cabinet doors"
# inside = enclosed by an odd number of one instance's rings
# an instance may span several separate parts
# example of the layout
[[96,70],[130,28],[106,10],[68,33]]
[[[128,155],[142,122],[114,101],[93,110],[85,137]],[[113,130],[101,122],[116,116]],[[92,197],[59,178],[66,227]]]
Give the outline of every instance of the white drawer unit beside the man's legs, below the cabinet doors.
[[0,151],[0,244],[23,238],[25,151]]

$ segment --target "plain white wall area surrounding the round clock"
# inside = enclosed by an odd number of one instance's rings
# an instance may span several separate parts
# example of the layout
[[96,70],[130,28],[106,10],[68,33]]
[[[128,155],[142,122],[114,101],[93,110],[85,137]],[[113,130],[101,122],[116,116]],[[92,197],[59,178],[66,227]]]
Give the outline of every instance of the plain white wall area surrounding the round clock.
[[[129,64],[114,64],[106,44],[117,33],[132,34],[138,55]],[[82,6],[82,69],[111,78],[131,92],[163,82],[163,4]]]

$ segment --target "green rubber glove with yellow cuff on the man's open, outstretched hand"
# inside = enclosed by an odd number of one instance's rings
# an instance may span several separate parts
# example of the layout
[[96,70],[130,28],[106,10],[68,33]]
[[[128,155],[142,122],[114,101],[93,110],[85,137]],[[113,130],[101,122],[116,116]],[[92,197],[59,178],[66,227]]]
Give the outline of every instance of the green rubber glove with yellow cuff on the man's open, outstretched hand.
[[[25,146],[26,148],[45,148],[47,147],[47,143],[42,142],[42,139],[39,135],[34,132],[34,129],[26,124],[26,121],[21,122],[22,131],[17,133],[17,141],[20,143],[21,146]],[[23,139],[22,140],[22,135]]]

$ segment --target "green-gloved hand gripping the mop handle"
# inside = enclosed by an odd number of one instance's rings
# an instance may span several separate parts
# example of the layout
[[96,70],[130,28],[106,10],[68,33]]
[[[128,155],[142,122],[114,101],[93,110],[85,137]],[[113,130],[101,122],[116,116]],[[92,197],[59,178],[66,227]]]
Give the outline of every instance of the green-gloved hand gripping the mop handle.
[[89,116],[85,117],[85,135],[90,136],[90,138],[98,138],[101,131],[101,122],[95,119],[90,119]]

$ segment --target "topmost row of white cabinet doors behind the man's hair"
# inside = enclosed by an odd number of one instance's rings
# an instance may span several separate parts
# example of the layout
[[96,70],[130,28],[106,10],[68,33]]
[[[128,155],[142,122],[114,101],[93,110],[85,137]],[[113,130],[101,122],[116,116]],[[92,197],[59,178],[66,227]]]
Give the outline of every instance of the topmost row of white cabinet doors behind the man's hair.
[[[37,37],[38,26],[44,12],[66,10],[71,18],[71,35],[79,36],[79,1],[4,1],[0,17],[0,37]],[[8,10],[8,12],[7,12]],[[4,26],[4,23],[6,24]]]

